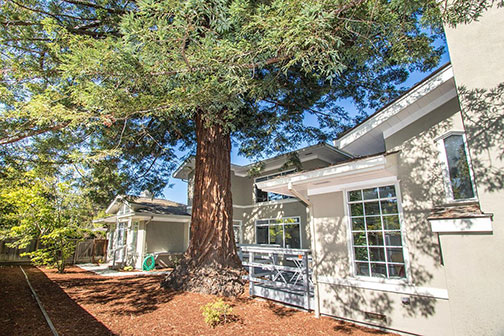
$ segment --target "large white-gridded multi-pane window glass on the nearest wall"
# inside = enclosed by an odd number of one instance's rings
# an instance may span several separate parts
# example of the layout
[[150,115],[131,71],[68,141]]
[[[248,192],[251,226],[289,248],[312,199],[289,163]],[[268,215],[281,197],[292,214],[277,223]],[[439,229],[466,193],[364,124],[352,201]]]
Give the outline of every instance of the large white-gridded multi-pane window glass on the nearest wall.
[[348,208],[356,275],[405,278],[395,186],[349,191]]

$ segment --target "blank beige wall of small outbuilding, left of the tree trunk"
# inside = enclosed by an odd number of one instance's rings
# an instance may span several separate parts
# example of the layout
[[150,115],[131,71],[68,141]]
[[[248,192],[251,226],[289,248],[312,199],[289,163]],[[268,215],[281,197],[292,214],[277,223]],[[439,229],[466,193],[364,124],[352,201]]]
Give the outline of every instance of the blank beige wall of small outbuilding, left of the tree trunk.
[[153,252],[184,252],[187,247],[186,223],[150,222],[146,225],[146,249]]

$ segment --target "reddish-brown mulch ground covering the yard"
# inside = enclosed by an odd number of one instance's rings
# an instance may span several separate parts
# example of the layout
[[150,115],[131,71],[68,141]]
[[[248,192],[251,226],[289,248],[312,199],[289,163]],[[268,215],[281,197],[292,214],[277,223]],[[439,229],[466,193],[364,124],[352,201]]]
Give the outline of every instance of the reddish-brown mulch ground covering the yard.
[[[23,266],[60,335],[382,335],[248,296],[225,300],[233,319],[211,328],[215,296],[161,289],[162,275],[103,277]],[[0,335],[51,335],[18,266],[0,266]]]

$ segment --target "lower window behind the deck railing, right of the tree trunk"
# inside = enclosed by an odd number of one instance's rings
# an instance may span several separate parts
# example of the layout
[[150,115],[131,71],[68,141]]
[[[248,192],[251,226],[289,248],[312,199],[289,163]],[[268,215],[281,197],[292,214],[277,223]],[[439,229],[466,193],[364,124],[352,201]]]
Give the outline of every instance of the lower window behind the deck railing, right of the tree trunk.
[[276,244],[286,248],[301,248],[299,217],[257,220],[256,243]]

